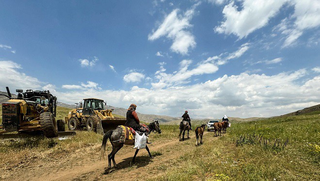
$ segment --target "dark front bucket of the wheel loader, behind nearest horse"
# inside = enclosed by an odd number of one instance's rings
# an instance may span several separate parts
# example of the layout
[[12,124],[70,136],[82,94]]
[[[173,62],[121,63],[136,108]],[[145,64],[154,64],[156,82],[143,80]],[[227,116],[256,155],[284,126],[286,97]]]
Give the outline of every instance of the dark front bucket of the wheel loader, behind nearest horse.
[[107,131],[117,128],[118,125],[125,125],[126,121],[126,118],[101,120],[100,123],[96,125],[96,132],[103,135]]

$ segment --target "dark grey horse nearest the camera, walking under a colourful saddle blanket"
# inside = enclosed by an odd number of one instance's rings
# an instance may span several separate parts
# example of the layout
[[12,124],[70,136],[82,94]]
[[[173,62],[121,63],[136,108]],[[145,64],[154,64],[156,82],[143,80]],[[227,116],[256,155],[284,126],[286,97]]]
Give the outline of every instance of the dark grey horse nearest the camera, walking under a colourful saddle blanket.
[[[160,129],[160,125],[158,123],[158,121],[152,122],[149,125],[147,125],[149,127],[149,131],[157,131],[159,134],[161,133],[161,129]],[[101,157],[104,158],[104,155],[106,153],[106,144],[107,144],[107,140],[109,139],[111,144],[112,144],[112,152],[110,154],[108,154],[108,168],[105,170],[105,172],[107,172],[110,168],[111,168],[111,160],[113,162],[113,167],[117,167],[117,165],[115,164],[114,161],[114,155],[115,153],[117,153],[124,144],[126,145],[134,145],[133,142],[119,142],[120,137],[122,134],[122,128],[121,127],[117,127],[116,129],[110,130],[108,131],[106,134],[104,134],[103,136],[103,140],[102,140],[102,149],[101,149]],[[136,133],[138,134],[138,133]],[[133,144],[132,144],[133,143]],[[148,151],[149,156],[151,158],[153,158],[153,156],[151,155],[148,146],[145,145],[145,149]],[[136,153],[134,153],[132,162],[134,163],[134,160],[136,158],[137,153],[139,152],[139,149],[136,150]]]

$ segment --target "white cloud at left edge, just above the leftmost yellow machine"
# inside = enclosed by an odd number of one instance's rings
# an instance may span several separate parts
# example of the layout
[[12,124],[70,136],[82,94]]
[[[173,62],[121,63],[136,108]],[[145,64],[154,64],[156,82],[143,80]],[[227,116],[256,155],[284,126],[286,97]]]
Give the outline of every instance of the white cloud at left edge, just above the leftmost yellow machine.
[[8,86],[10,90],[16,89],[41,89],[41,84],[37,78],[21,72],[21,65],[13,61],[0,61],[0,90],[5,90]]

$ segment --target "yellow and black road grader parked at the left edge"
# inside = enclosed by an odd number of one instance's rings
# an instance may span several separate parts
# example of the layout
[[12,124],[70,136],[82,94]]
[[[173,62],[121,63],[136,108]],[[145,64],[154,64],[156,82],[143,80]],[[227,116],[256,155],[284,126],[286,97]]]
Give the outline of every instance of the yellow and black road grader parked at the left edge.
[[12,97],[6,87],[7,102],[2,103],[2,125],[0,134],[17,131],[18,133],[42,133],[47,138],[58,136],[64,131],[64,121],[55,119],[57,97],[49,91],[16,89],[17,97]]

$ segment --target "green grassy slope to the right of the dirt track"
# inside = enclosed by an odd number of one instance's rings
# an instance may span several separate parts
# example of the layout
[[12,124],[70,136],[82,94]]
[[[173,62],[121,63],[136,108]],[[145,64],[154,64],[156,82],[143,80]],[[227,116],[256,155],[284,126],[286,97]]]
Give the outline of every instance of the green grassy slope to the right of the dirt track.
[[[169,171],[156,180],[320,180],[319,123],[320,111],[232,124],[227,135],[189,150],[177,160],[179,164],[166,168]],[[289,142],[277,151],[263,144],[236,146],[241,135],[252,133]]]

